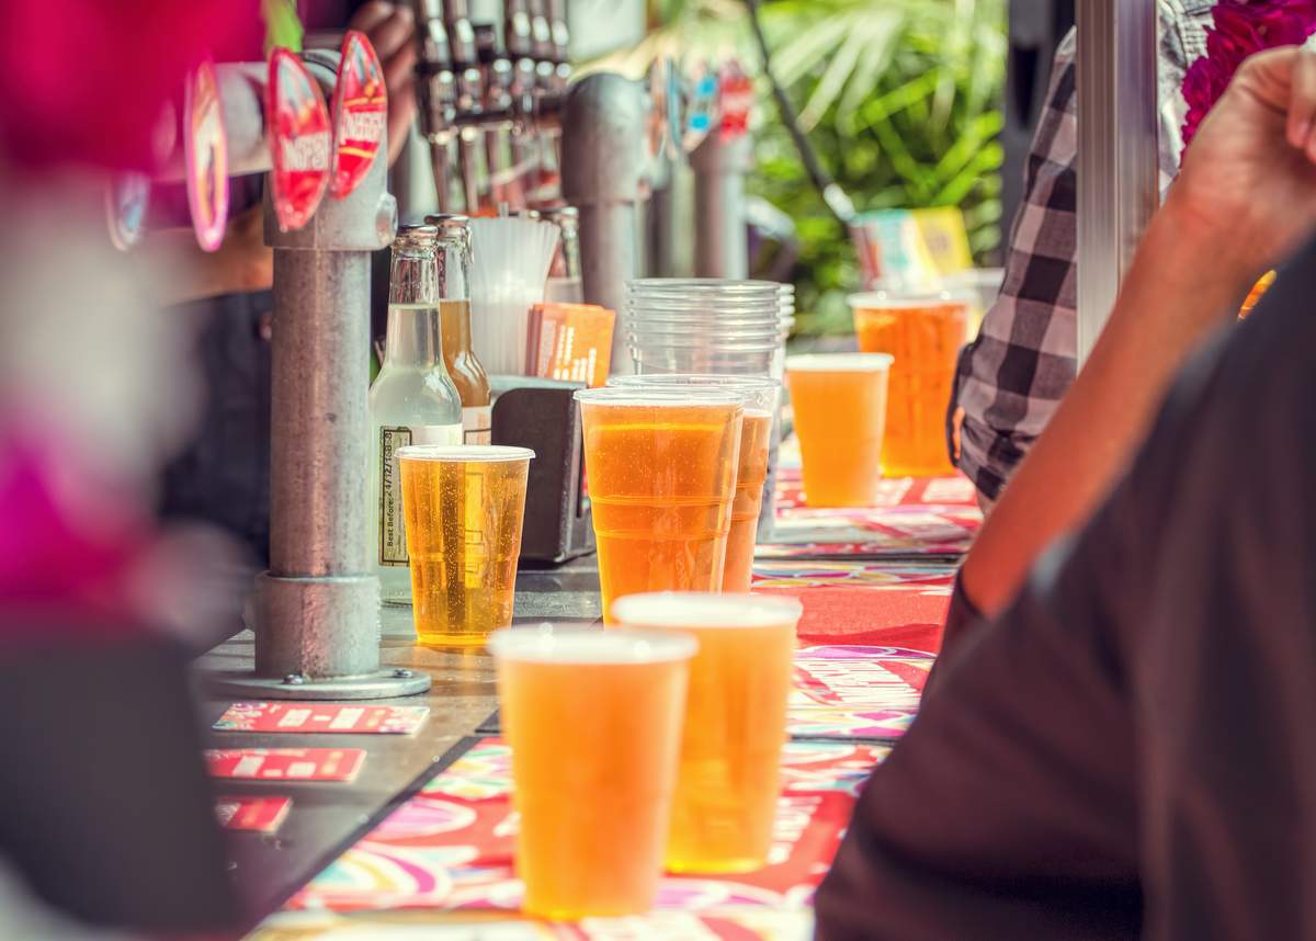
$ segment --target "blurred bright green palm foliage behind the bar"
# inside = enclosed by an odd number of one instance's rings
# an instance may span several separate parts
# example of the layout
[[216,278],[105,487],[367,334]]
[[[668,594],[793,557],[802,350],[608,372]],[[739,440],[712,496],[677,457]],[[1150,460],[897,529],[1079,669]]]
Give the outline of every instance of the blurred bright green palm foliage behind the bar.
[[[958,205],[980,262],[1000,242],[1000,92],[1005,0],[766,0],[772,70],[822,165],[855,208]],[[761,61],[742,0],[651,0],[650,33],[609,67],[640,75],[654,59]],[[796,332],[850,330],[859,287],[850,241],[809,184],[758,83],[751,192],[790,215],[801,242]]]

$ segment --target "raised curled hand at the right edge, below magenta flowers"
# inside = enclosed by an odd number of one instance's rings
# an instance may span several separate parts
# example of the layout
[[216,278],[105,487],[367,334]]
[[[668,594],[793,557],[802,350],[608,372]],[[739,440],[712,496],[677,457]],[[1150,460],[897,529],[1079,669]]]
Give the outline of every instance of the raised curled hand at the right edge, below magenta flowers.
[[1188,147],[1166,208],[1240,291],[1311,236],[1316,51],[1288,46],[1242,64]]

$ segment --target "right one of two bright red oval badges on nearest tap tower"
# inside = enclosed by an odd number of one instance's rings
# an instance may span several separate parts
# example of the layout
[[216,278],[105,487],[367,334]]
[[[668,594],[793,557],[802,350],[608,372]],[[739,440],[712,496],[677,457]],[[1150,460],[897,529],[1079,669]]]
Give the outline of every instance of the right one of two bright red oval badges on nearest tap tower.
[[388,93],[370,39],[347,30],[333,92],[333,171],[329,192],[342,199],[366,176],[384,142]]

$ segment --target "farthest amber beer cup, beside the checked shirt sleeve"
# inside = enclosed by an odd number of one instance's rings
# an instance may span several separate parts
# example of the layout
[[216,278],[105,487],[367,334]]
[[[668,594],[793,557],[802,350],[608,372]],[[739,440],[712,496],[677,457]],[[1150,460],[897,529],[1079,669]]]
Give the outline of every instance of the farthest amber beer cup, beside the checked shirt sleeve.
[[969,329],[963,292],[853,295],[854,330],[865,353],[895,357],[887,395],[887,476],[953,474],[946,408]]

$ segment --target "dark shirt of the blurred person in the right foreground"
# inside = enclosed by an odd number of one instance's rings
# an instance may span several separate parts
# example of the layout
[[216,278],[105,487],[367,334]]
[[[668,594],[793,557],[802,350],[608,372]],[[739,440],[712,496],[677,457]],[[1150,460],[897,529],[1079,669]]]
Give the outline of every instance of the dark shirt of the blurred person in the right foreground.
[[1316,243],[963,632],[861,795],[820,941],[1316,937],[1313,297]]

